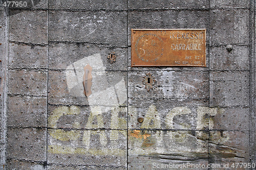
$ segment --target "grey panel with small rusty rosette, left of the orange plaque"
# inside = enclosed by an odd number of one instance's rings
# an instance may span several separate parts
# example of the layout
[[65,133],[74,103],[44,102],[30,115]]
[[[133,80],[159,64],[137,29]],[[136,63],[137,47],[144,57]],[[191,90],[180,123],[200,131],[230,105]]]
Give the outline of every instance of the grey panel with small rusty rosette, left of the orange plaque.
[[[108,60],[108,55],[112,52],[116,56],[113,63]],[[99,57],[95,58],[95,54]],[[110,48],[87,43],[51,43],[49,46],[49,68],[67,69],[69,65],[81,63],[81,60],[87,60],[92,67],[96,66],[93,62],[100,63],[97,69],[127,70],[127,48]]]

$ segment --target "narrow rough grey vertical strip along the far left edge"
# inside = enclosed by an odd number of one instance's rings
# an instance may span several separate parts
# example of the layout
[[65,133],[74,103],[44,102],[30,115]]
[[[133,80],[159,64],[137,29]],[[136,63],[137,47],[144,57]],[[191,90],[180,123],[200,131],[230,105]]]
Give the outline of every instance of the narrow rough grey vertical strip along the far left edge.
[[0,46],[1,49],[1,60],[2,60],[2,68],[1,68],[1,81],[2,83],[0,84],[0,94],[1,94],[1,139],[0,139],[0,169],[6,169],[6,145],[7,145],[7,136],[6,136],[6,119],[7,119],[7,65],[8,65],[8,52],[9,52],[9,45],[8,45],[8,40],[9,40],[9,17],[7,16],[6,11],[2,8],[0,9],[1,15],[3,16],[2,23],[3,23],[3,29],[1,31],[1,41],[2,45]]

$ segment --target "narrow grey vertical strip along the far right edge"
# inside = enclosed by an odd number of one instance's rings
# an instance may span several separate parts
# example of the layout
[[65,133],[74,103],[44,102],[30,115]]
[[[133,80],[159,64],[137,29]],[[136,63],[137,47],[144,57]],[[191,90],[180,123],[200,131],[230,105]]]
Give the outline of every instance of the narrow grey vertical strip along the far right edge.
[[255,0],[250,0],[250,115],[249,115],[249,152],[250,152],[250,162],[255,163],[255,99],[254,99],[254,93],[255,93]]

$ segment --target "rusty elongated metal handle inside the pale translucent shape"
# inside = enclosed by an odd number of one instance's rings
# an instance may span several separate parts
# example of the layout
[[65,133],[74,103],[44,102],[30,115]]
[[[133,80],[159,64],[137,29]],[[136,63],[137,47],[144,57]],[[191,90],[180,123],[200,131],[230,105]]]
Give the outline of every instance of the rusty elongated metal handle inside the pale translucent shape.
[[84,69],[84,74],[83,74],[83,93],[87,97],[92,94],[92,67],[88,64],[87,66],[83,67]]

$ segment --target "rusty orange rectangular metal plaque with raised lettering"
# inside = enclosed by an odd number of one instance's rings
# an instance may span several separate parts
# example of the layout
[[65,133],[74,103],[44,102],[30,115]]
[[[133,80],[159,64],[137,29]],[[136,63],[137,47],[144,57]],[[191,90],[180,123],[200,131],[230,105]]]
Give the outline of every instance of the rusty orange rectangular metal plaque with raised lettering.
[[132,29],[132,67],[205,67],[205,34],[205,29]]

